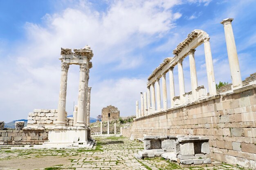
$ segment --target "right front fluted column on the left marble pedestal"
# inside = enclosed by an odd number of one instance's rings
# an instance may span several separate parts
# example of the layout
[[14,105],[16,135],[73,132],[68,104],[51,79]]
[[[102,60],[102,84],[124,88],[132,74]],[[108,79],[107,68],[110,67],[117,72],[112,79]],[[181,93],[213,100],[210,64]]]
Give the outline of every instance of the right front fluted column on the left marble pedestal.
[[80,65],[79,93],[77,106],[77,121],[75,126],[85,127],[85,100],[86,100],[86,64]]

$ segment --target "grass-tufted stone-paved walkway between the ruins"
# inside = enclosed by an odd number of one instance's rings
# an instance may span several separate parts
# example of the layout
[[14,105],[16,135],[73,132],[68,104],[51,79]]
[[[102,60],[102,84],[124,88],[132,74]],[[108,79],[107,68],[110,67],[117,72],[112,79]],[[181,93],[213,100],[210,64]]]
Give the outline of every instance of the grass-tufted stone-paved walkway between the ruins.
[[[0,149],[0,170],[241,170],[222,164],[218,167],[180,168],[163,158],[137,160],[133,155],[143,144],[126,137],[95,137],[92,150],[11,150]],[[244,169],[245,170],[245,169]]]

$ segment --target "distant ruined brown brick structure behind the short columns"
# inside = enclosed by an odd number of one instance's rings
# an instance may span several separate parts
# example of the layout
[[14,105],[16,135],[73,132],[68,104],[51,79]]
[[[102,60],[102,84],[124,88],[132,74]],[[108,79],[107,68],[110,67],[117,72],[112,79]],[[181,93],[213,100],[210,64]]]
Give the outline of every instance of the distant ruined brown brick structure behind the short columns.
[[101,111],[101,121],[111,121],[119,119],[120,111],[115,106],[107,106]]

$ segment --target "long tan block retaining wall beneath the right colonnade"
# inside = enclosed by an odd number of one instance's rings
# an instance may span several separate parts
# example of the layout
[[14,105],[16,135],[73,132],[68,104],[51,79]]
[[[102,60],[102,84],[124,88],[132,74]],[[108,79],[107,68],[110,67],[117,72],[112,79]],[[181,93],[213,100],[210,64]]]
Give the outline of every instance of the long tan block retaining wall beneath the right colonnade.
[[256,168],[256,86],[137,118],[122,135],[197,135],[209,138],[211,157]]

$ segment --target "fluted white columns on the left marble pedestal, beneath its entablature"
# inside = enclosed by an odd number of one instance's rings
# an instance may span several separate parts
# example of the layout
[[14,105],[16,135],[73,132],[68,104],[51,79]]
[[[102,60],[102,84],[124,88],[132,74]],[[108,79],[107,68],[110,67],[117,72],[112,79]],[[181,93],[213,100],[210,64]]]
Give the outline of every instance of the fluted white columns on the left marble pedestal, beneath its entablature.
[[[66,95],[67,95],[67,72],[69,63],[61,63],[61,84],[58,103],[58,116],[56,126],[66,126]],[[80,64],[78,106],[74,108],[74,126],[85,127],[90,124],[90,92],[88,87],[89,68],[87,64]]]

